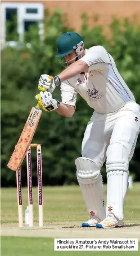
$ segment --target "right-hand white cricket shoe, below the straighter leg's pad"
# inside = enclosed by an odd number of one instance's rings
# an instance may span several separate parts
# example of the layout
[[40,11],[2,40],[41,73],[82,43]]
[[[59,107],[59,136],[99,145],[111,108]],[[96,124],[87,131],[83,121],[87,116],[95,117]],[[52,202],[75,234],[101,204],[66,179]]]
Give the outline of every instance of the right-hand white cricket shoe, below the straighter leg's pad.
[[118,228],[123,226],[123,220],[116,218],[112,212],[110,212],[102,222],[96,224],[97,228]]

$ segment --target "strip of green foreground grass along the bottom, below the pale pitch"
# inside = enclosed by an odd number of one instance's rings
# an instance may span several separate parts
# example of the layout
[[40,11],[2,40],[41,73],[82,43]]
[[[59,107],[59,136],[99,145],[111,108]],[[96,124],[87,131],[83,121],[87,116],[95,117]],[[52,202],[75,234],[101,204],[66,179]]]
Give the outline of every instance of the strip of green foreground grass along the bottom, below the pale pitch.
[[[54,251],[53,238],[2,237],[1,256],[138,256],[139,251]],[[140,244],[139,244],[140,250]]]

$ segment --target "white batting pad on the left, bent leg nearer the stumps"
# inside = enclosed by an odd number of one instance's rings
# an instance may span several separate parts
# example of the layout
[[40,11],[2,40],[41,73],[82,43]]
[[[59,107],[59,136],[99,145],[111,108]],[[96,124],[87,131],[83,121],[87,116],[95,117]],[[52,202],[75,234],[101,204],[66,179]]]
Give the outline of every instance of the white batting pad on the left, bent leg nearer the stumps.
[[89,158],[79,157],[75,160],[76,175],[90,215],[96,215],[100,220],[105,218],[103,201],[102,175],[96,163]]

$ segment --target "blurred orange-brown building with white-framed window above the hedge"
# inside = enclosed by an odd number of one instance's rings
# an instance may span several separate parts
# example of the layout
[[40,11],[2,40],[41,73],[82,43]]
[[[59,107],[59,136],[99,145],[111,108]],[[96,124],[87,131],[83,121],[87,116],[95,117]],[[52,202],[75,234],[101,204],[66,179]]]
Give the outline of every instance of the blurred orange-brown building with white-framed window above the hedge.
[[[6,38],[6,21],[12,20],[17,15],[17,32],[20,39],[25,31],[29,30],[31,24],[43,19],[44,8],[48,8],[51,14],[56,8],[60,8],[67,15],[68,27],[79,31],[82,20],[81,15],[85,12],[89,16],[91,26],[95,25],[93,16],[98,14],[99,20],[96,24],[107,25],[111,22],[112,16],[119,19],[137,15],[140,20],[140,1],[13,1],[1,0],[1,41],[13,41]],[[12,26],[9,28],[14,29]],[[40,32],[42,27],[40,25]]]

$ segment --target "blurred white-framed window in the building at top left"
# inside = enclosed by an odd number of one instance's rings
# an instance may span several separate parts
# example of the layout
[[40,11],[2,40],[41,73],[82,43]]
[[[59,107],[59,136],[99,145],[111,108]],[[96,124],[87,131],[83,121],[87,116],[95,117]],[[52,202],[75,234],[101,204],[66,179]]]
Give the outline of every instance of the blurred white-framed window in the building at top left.
[[[1,38],[2,45],[22,40],[30,27],[43,19],[42,3],[1,3]],[[39,24],[39,34],[42,33]],[[11,42],[11,43],[10,43]]]

